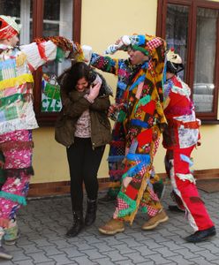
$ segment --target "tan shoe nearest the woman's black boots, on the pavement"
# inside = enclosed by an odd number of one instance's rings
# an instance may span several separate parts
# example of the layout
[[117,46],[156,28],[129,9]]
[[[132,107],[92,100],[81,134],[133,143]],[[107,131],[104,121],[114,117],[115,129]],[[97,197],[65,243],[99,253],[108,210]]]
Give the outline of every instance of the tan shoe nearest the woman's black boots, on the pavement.
[[125,231],[125,225],[123,221],[112,218],[100,227],[99,231],[104,235],[115,235],[116,233]]

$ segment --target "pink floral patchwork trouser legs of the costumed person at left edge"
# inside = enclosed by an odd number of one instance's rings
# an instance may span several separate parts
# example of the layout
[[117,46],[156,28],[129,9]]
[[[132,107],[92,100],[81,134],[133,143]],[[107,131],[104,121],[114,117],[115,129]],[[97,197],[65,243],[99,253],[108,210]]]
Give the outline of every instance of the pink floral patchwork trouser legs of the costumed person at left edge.
[[16,213],[21,205],[26,205],[29,180],[34,174],[32,132],[19,130],[4,133],[0,135],[0,148],[4,153],[4,176],[6,178],[0,192],[0,221],[1,223],[7,221],[7,225],[2,226],[5,244],[14,244],[18,238]]

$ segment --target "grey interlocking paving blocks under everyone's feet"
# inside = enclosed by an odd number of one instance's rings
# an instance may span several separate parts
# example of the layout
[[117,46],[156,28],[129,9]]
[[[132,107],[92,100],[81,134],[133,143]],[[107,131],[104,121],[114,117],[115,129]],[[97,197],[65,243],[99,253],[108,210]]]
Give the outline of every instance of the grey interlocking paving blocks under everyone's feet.
[[[100,192],[100,196],[104,192]],[[219,193],[201,192],[208,212],[219,227]],[[162,199],[168,208],[170,186]],[[199,244],[186,243],[183,238],[193,233],[184,213],[171,213],[170,220],[161,223],[154,231],[141,231],[145,222],[139,213],[132,227],[125,225],[125,232],[115,236],[101,235],[97,228],[108,221],[114,204],[99,204],[97,220],[78,237],[66,239],[65,232],[72,224],[69,196],[30,200],[19,211],[21,236],[14,246],[5,246],[13,254],[11,261],[1,260],[1,265],[172,265],[219,264],[219,236]],[[219,230],[217,231],[219,234]]]

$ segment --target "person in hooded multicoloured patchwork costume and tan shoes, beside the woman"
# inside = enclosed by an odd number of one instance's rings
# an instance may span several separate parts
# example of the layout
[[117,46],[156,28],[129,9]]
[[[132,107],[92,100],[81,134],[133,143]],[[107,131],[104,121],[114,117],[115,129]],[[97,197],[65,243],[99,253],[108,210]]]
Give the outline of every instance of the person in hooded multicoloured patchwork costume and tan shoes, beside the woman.
[[[121,156],[122,168],[113,170],[120,170],[119,174],[122,172],[122,183],[113,218],[99,228],[107,235],[124,231],[124,222],[132,223],[138,208],[150,217],[143,224],[143,230],[154,229],[168,220],[150,179],[162,128],[166,125],[162,111],[166,44],[161,38],[147,34],[134,34],[129,38],[130,44],[120,48],[128,52],[129,59],[112,59],[95,53],[90,58],[94,67],[118,76],[116,104],[109,112],[118,112],[114,146],[118,147],[118,140],[123,152],[117,154]],[[109,153],[109,160],[111,158]],[[117,156],[112,162],[115,159]]]

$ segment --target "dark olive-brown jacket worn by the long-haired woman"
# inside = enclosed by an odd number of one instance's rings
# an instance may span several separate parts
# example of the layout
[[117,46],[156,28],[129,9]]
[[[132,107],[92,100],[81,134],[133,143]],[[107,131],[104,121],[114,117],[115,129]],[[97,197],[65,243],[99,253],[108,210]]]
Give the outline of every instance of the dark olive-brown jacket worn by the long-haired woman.
[[64,101],[64,107],[58,114],[55,125],[55,139],[65,147],[74,142],[75,125],[81,114],[89,109],[91,117],[91,141],[93,148],[106,145],[111,140],[111,127],[107,111],[109,109],[109,95],[102,95],[88,102],[86,93],[72,91]]

